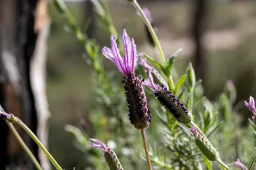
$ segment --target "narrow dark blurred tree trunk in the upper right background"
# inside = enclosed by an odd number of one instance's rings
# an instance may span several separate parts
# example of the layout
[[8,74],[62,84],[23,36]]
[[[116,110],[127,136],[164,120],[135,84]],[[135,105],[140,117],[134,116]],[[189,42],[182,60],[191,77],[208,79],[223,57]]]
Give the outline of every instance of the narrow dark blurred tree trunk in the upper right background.
[[195,44],[194,68],[196,75],[204,79],[205,60],[204,60],[204,44],[203,36],[207,18],[207,5],[209,0],[194,0],[195,10],[193,11],[192,36]]

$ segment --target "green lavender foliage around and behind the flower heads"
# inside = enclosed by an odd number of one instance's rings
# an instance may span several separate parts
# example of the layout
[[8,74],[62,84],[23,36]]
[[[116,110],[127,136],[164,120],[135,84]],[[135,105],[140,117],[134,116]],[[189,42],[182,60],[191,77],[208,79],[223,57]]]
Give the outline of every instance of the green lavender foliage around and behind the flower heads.
[[[107,3],[103,1],[100,4],[97,0],[92,2],[102,22],[104,32],[107,36],[116,35]],[[108,72],[104,66],[104,57],[100,54],[97,40],[90,40],[82,33],[76,25],[76,20],[62,1],[54,0],[54,3],[56,3],[58,12],[67,19],[77,40],[83,45],[86,52],[84,60],[95,71],[93,73],[95,74],[94,79],[90,80],[93,82],[95,93],[97,93],[97,98],[93,101],[97,107],[90,112],[90,121],[92,121],[92,128],[95,130],[94,138],[104,142],[109,141],[109,139],[115,141],[117,145],[115,153],[120,158],[124,169],[144,169],[143,145],[140,142],[140,137],[138,137],[138,131],[132,128],[127,116],[128,110],[120,73]],[[120,42],[118,44],[120,46]],[[252,131],[249,127],[239,128],[239,116],[232,110],[236,101],[236,88],[234,86],[225,87],[224,92],[216,100],[208,100],[203,95],[202,81],[196,81],[195,71],[190,63],[188,68],[184,70],[186,73],[178,76],[177,80],[173,80],[175,59],[177,59],[180,51],[177,50],[172,54],[165,66],[147,54],[143,54],[143,58],[147,58],[154,69],[159,70],[160,75],[157,76],[160,81],[158,81],[163,82],[161,81],[163,79],[168,82],[168,89],[184,103],[189,112],[193,113],[195,125],[202,130],[205,138],[210,138],[209,141],[211,141],[212,146],[216,147],[220,157],[225,162],[230,163],[234,162],[240,155],[246,155],[242,160],[249,164],[246,158],[253,156],[251,151],[255,144],[253,143],[251,150],[242,146],[243,140],[248,141],[252,138],[253,133],[249,133]],[[150,146],[155,146],[153,149],[150,147],[150,160],[154,169],[220,169],[216,164],[207,160],[196,146],[193,136],[188,130],[191,125],[185,127],[175,120],[172,114],[158,104],[152,96],[152,91],[148,91],[147,97],[150,100],[150,108],[154,111],[152,112],[152,123],[147,130],[147,133],[151,135],[148,143]],[[255,130],[255,124],[251,123]],[[74,135],[76,147],[83,151],[86,167],[106,169],[106,166],[100,164],[103,158],[102,153],[88,145],[88,132],[86,130],[70,125],[66,127],[66,130]],[[253,158],[251,165],[254,162],[255,158]]]

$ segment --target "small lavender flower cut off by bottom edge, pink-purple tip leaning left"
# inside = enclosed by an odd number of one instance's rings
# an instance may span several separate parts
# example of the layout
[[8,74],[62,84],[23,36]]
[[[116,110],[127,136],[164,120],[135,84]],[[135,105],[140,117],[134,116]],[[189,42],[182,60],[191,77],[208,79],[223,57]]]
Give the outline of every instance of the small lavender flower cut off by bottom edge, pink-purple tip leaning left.
[[99,139],[90,139],[90,140],[95,142],[95,143],[90,143],[90,145],[93,148],[100,148],[100,150],[102,150],[104,152],[104,157],[109,166],[109,169],[124,170],[113,150],[108,148],[108,146],[106,146],[106,144],[102,143]]

